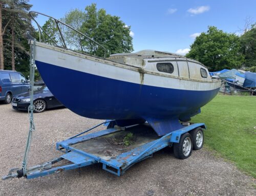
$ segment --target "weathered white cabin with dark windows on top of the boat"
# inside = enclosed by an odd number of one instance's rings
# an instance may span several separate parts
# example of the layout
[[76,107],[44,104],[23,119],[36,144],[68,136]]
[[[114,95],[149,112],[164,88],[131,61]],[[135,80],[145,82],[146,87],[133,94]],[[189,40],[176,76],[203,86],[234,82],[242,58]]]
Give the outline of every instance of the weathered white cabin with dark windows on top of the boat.
[[108,59],[156,74],[211,81],[208,69],[202,63],[173,53],[142,50],[137,53],[113,54]]

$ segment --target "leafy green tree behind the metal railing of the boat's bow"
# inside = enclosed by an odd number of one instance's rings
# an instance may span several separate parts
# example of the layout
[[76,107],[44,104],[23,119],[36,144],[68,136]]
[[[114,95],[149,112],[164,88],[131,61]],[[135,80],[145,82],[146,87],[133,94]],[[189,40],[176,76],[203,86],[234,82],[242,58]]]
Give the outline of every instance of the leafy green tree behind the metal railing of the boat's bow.
[[[133,38],[130,36],[131,27],[125,25],[120,17],[106,14],[104,9],[97,10],[96,4],[87,6],[84,11],[71,10],[60,20],[104,46],[108,54],[133,51]],[[42,28],[52,37],[54,42],[61,43],[53,19],[47,20]],[[104,50],[90,39],[64,25],[59,24],[59,28],[69,49],[104,56]],[[49,37],[46,38],[46,42],[54,44]]]

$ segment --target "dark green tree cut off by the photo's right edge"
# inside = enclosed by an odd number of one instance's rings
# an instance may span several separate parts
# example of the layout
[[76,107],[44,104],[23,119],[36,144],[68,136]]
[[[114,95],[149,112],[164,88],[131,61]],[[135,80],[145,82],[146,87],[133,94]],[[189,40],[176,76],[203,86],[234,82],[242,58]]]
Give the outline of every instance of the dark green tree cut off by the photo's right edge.
[[246,31],[241,37],[241,52],[245,56],[245,67],[256,66],[256,24]]

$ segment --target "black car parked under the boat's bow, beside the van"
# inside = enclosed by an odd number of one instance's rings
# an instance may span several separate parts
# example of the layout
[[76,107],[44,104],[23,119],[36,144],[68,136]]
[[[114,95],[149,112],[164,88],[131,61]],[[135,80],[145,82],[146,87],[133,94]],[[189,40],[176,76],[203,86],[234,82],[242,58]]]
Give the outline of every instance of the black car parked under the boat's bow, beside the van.
[[[46,85],[42,86],[40,89],[34,92],[34,112],[40,113],[44,112],[48,108],[61,107],[63,106],[53,94],[49,91]],[[28,111],[30,105],[29,92],[23,93],[13,97],[12,108],[14,110],[24,110]]]

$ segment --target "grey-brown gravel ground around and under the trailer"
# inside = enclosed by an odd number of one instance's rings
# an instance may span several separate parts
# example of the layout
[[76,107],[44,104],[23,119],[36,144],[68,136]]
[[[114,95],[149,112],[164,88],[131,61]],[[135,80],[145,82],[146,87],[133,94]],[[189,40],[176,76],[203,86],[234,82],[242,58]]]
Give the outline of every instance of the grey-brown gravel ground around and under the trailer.
[[[0,176],[20,167],[29,129],[28,114],[0,104]],[[80,117],[66,108],[35,114],[36,131],[29,165],[46,162],[61,153],[55,143],[102,121]],[[0,180],[0,195],[256,195],[255,179],[205,148],[186,160],[174,158],[170,148],[137,163],[122,177],[101,165],[26,180]]]

